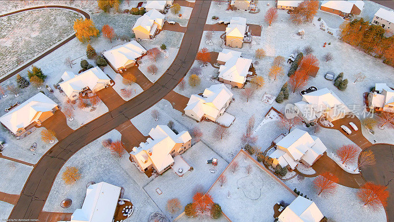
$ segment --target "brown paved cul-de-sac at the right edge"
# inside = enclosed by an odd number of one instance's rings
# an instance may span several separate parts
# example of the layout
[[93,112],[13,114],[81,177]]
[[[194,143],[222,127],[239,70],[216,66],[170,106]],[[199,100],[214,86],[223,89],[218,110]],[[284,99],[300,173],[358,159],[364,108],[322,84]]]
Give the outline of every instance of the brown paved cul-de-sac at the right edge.
[[394,220],[394,145],[374,144],[365,148],[363,152],[371,150],[375,154],[376,163],[361,166],[361,176],[374,184],[387,186],[390,195],[387,199],[387,221]]

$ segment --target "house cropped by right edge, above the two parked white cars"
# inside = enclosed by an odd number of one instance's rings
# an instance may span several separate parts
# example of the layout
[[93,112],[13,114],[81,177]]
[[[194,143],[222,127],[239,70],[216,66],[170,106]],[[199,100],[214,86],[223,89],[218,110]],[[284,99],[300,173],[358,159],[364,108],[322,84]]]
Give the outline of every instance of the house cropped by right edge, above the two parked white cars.
[[394,112],[394,90],[386,83],[376,83],[375,91],[368,93],[368,107],[376,111]]

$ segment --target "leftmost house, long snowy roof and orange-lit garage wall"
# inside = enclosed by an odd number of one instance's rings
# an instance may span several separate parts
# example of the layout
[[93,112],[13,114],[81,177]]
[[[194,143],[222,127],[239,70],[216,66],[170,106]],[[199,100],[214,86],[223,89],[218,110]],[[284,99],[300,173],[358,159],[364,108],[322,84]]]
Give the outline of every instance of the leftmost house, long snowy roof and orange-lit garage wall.
[[2,115],[0,122],[18,137],[33,126],[47,120],[57,110],[59,110],[59,105],[39,92]]

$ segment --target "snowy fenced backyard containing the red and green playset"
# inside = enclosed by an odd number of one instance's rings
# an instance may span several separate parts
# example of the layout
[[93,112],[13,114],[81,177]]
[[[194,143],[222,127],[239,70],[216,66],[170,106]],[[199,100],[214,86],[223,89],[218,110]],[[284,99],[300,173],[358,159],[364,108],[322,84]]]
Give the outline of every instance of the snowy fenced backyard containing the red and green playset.
[[[202,191],[205,193],[228,165],[224,159],[201,142],[198,142],[186,150],[182,154],[182,157],[194,168],[191,174],[186,177],[179,177],[169,169],[148,185],[144,186],[144,190],[168,218],[171,218],[171,214],[165,209],[168,199],[178,198],[181,201],[181,205],[185,206],[192,202],[196,187],[201,187]],[[211,157],[218,158],[218,165],[215,166],[216,173],[210,173],[210,169],[213,165],[206,163],[206,160]],[[162,190],[163,193],[161,195],[156,192],[157,188]],[[175,217],[181,213],[182,212],[178,212]]]

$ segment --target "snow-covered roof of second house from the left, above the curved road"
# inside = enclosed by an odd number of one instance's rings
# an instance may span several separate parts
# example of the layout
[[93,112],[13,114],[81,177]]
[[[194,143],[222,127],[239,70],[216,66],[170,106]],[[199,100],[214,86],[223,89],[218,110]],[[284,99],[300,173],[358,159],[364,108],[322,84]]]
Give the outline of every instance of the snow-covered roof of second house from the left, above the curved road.
[[[63,79],[63,77],[66,79]],[[89,87],[89,89],[93,90],[98,84],[103,84],[111,80],[97,66],[77,75],[72,72],[65,72],[62,75],[62,79],[64,81],[59,83],[59,85],[68,97],[73,92],[80,92],[84,87]]]

